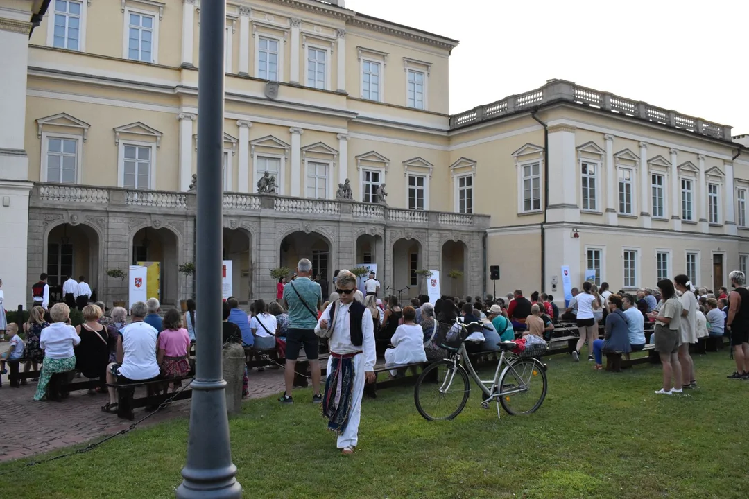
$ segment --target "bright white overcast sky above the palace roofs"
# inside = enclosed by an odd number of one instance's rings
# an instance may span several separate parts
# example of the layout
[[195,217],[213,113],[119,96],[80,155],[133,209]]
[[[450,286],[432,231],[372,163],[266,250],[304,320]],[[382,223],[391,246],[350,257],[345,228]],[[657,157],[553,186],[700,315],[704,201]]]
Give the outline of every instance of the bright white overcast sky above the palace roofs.
[[450,113],[552,78],[749,133],[749,0],[346,0],[460,40]]

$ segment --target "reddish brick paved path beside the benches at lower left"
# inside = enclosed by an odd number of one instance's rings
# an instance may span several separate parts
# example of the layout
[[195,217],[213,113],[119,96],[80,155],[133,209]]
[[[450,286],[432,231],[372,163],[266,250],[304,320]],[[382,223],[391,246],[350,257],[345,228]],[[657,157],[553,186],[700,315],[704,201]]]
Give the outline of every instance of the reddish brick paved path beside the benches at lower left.
[[[102,412],[108,401],[104,394],[88,395],[74,391],[62,402],[35,402],[36,383],[10,388],[3,375],[0,388],[0,462],[46,453],[60,447],[81,444],[92,438],[111,435],[130,426],[116,414]],[[283,370],[267,369],[249,373],[250,398],[267,397],[283,391]],[[173,402],[140,426],[189,414],[189,399]],[[136,420],[145,415],[136,409]],[[127,437],[126,437],[127,438]]]

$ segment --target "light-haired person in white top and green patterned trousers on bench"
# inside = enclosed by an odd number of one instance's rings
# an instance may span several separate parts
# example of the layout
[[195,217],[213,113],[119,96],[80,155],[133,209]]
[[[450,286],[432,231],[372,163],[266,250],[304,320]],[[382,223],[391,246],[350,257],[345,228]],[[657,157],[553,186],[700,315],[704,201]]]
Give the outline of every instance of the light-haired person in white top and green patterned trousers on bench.
[[[46,275],[40,282],[45,280]],[[39,340],[39,346],[44,350],[44,362],[34,400],[41,400],[46,396],[46,385],[52,378],[52,374],[67,373],[76,368],[73,346],[81,342],[81,338],[76,334],[76,328],[67,323],[70,318],[70,308],[66,304],[55,304],[49,311],[49,315],[55,322],[42,330]]]

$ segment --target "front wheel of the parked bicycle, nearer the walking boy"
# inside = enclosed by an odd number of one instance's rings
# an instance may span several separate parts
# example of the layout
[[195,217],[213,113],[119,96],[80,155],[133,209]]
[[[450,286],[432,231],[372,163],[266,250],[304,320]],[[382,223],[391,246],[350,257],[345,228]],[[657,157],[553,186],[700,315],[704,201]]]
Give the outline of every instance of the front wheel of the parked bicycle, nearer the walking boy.
[[416,380],[413,401],[425,420],[451,420],[461,413],[470,395],[468,374],[460,364],[438,361]]

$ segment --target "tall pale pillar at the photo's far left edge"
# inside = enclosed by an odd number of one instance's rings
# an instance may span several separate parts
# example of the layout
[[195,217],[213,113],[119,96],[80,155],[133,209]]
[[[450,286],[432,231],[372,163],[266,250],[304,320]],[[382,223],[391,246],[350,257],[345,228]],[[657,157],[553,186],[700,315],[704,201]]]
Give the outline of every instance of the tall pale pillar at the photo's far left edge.
[[[0,278],[4,306],[28,305],[28,182],[26,156],[26,74],[30,10],[0,7]],[[48,19],[49,22],[49,19]],[[41,251],[44,251],[43,249]]]

